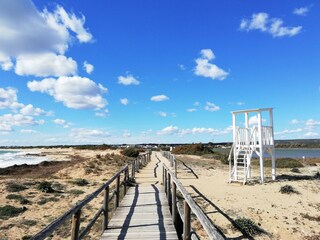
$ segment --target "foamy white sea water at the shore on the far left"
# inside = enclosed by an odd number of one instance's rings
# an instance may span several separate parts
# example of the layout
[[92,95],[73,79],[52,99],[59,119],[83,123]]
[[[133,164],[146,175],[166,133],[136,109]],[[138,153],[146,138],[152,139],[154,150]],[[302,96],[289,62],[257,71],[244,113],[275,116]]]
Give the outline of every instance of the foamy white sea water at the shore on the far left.
[[46,157],[28,156],[28,153],[25,151],[0,150],[0,168],[21,164],[38,164],[48,160]]

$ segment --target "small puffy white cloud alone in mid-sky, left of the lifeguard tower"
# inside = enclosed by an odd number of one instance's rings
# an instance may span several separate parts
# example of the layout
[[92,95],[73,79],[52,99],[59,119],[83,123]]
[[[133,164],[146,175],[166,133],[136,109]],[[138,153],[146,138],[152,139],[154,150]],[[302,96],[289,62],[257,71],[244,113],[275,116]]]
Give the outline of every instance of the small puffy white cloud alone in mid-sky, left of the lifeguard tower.
[[229,75],[228,72],[210,62],[215,59],[211,49],[202,49],[200,54],[201,57],[196,59],[197,65],[194,69],[196,75],[218,80],[224,80]]

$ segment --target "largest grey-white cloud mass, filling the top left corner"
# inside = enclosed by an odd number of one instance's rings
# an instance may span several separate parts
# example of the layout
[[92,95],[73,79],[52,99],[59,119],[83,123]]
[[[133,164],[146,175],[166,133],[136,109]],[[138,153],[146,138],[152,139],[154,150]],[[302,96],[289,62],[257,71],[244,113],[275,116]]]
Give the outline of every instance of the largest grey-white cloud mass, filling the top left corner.
[[[0,1],[0,66],[17,66],[19,75],[63,76],[77,72],[77,64],[63,54],[78,39],[89,42],[84,16],[77,17],[61,6],[39,11],[31,0]],[[75,36],[75,37],[74,37]]]

